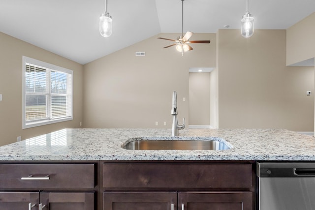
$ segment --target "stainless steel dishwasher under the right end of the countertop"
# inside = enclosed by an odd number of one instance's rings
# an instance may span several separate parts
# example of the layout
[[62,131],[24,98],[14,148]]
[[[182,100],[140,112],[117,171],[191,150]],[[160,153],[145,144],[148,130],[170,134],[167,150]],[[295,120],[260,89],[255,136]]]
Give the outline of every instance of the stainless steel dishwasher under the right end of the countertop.
[[315,210],[315,162],[257,162],[258,210]]

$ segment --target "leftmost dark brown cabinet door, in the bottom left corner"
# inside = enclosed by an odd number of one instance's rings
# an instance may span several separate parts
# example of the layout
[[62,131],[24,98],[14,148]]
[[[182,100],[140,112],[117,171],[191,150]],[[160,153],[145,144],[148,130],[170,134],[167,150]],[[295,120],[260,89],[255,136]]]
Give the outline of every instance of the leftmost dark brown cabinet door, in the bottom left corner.
[[0,210],[38,210],[38,192],[0,192]]

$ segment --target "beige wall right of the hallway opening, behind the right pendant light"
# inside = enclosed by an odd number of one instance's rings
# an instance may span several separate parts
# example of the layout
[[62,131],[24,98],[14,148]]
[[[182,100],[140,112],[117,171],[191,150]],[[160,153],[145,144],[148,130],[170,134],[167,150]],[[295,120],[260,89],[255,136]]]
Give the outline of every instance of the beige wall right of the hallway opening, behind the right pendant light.
[[287,67],[286,30],[219,30],[219,127],[313,131],[314,67]]

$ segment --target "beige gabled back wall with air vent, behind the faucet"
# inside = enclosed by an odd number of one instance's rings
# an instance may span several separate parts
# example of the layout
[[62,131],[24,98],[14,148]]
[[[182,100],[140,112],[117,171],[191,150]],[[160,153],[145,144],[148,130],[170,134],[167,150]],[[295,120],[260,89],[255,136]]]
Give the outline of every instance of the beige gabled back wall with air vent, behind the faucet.
[[[216,65],[216,34],[194,33],[192,40],[211,43],[191,44],[184,56],[175,47],[162,49],[173,43],[157,38],[177,36],[161,33],[84,65],[84,127],[171,128],[173,90],[179,123],[186,118],[188,125],[189,67]],[[136,51],[146,56],[135,57]]]

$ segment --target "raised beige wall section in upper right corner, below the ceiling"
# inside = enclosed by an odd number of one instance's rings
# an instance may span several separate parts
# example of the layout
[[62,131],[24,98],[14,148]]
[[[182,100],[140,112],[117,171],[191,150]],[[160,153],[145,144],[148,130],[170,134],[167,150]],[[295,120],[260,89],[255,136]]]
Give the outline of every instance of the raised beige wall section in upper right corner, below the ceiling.
[[286,32],[286,64],[315,57],[315,12]]

